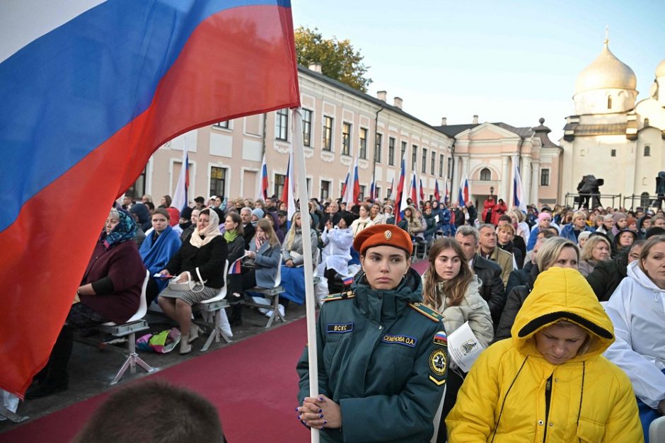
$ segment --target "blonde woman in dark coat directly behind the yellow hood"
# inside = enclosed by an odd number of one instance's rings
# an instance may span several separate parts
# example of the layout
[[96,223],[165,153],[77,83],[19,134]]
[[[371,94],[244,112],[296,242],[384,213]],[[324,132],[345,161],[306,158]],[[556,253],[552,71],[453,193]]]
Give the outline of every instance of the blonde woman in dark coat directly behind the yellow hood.
[[543,242],[543,245],[538,249],[536,256],[536,269],[531,270],[531,283],[516,286],[511,289],[506,300],[506,306],[501,313],[501,319],[497,326],[495,334],[495,342],[510,338],[510,329],[515,322],[515,317],[521,309],[524,301],[531,293],[533,284],[537,280],[538,275],[550,267],[570,267],[577,270],[577,263],[579,262],[579,248],[572,241],[563,237],[550,237]]

